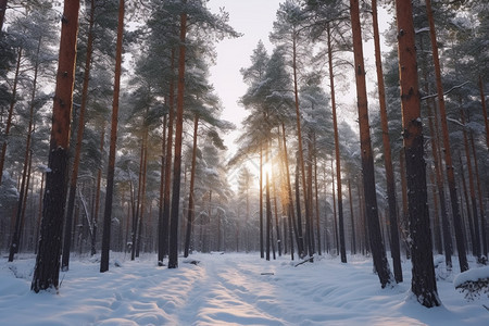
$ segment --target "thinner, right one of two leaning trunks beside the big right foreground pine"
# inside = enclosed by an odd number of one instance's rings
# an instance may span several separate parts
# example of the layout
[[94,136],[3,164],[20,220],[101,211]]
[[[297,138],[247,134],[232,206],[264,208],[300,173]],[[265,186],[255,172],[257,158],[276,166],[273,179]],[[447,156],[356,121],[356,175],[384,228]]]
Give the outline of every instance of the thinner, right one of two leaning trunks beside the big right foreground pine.
[[380,105],[380,120],[383,126],[384,164],[387,179],[387,201],[389,203],[390,223],[390,254],[397,283],[402,281],[401,249],[399,246],[398,209],[396,200],[396,180],[392,168],[392,153],[390,149],[389,126],[387,118],[386,89],[384,86],[383,61],[380,58],[380,37],[378,33],[377,0],[372,0],[374,43],[375,43],[375,65],[377,67],[378,101]]

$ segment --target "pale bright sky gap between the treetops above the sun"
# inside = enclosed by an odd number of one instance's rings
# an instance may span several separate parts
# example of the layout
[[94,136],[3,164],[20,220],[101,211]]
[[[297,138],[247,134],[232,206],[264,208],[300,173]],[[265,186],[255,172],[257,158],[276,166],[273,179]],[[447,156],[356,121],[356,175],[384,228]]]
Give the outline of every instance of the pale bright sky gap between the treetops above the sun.
[[242,67],[250,66],[250,57],[262,40],[272,52],[268,34],[272,32],[275,14],[280,0],[211,0],[209,8],[212,12],[218,12],[225,8],[229,13],[229,24],[242,37],[225,39],[217,47],[217,64],[211,68],[211,82],[217,95],[223,101],[223,118],[236,124],[238,129],[230,133],[226,138],[226,146],[234,152],[233,140],[240,134],[239,124],[248,115],[238,100],[247,90],[239,72]]

